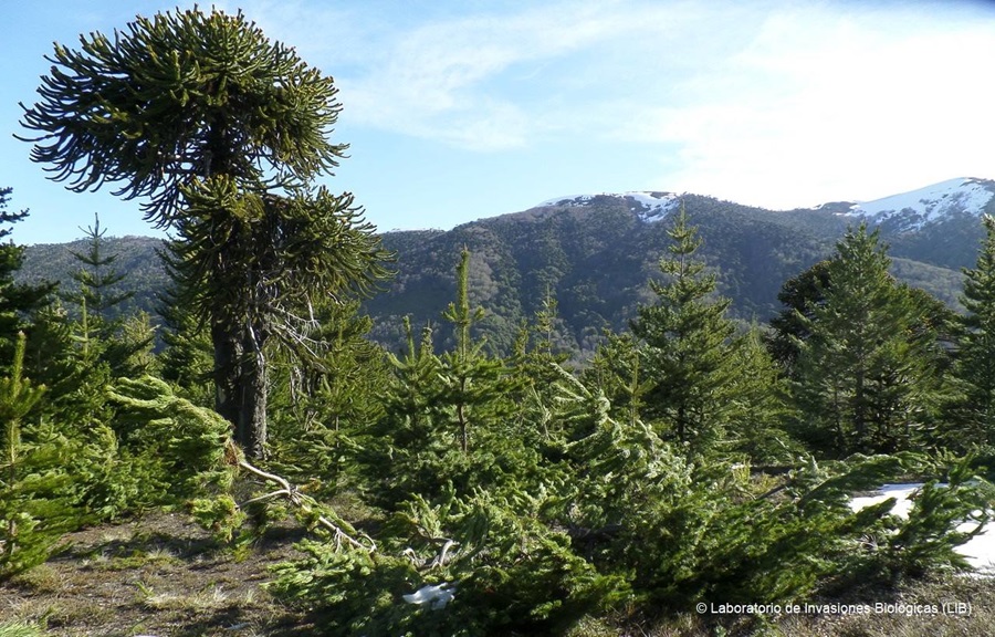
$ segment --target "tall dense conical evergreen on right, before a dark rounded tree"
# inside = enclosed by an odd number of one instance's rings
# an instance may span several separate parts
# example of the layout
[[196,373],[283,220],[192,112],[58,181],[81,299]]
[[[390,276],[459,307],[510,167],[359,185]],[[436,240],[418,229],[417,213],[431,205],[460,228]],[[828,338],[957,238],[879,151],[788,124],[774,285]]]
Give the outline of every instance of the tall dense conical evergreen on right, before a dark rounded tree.
[[[942,353],[923,305],[888,273],[878,230],[851,228],[799,342],[796,396],[808,436],[832,453],[905,449],[930,425]],[[827,450],[828,450],[827,449]]]

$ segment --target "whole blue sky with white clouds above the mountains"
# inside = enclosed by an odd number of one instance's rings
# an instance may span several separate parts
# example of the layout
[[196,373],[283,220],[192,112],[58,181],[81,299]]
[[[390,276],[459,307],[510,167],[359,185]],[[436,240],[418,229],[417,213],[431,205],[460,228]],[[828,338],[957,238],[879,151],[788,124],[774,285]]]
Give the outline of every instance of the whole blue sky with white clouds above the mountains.
[[[209,6],[201,3],[202,6]],[[0,186],[18,243],[151,234],[137,201],[76,195],[15,140],[53,42],[191,2],[4,2]],[[995,178],[995,2],[220,1],[335,77],[324,182],[380,230],[451,228],[586,192],[775,209]]]

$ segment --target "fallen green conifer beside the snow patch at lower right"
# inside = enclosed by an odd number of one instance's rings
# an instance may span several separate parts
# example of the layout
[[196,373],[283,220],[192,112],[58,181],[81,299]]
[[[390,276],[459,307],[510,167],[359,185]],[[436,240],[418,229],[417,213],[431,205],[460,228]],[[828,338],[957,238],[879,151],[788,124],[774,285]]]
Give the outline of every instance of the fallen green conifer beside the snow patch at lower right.
[[[713,458],[694,467],[638,418],[614,418],[603,395],[578,382],[561,389],[558,417],[586,434],[568,446],[570,478],[554,499],[556,519],[575,552],[600,573],[620,575],[657,609],[690,610],[712,599],[785,603],[861,578],[888,583],[922,564],[955,566],[952,546],[964,536],[945,533],[956,515],[985,508],[978,493],[965,493],[972,504],[956,513],[957,497],[950,497],[908,524],[888,515],[892,502],[850,510],[855,491],[934,470],[912,455],[831,467],[809,460],[760,492],[748,466]],[[873,551],[868,537],[879,542]]]

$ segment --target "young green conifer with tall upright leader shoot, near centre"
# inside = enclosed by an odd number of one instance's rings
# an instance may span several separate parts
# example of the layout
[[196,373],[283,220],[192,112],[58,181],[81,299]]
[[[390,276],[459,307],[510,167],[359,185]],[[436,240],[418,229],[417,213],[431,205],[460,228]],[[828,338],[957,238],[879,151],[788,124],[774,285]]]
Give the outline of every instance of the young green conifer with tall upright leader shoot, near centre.
[[[452,349],[434,355],[431,331],[416,346],[408,326],[408,355],[392,358],[397,382],[378,427],[390,456],[388,498],[417,493],[431,501],[447,484],[462,495],[514,481],[537,462],[525,443],[528,434],[514,417],[520,378],[472,336],[482,311],[469,301],[469,268],[470,252],[463,250],[457,297],[443,314],[452,324]],[[377,470],[383,472],[380,464]]]

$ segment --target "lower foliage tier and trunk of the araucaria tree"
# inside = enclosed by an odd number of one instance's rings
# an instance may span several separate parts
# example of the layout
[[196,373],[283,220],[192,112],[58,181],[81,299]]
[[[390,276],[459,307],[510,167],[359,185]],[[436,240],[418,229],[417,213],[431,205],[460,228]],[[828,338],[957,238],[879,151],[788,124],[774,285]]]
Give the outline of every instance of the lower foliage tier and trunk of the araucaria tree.
[[316,357],[315,306],[369,295],[387,278],[389,255],[348,194],[240,195],[229,181],[187,195],[188,215],[176,222],[179,239],[167,257],[176,300],[238,335],[235,439],[251,457],[263,457],[272,345]]

